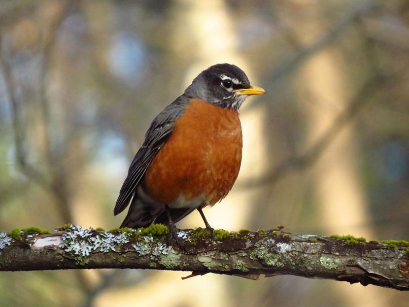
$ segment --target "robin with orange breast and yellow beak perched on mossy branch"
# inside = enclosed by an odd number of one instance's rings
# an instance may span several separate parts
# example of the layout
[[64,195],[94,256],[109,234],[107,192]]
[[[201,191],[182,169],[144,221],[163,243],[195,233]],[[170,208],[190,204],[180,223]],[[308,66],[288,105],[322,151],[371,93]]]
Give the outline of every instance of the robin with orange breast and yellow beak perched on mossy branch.
[[162,223],[179,242],[174,223],[196,209],[214,238],[202,209],[232,189],[241,164],[239,108],[265,93],[235,65],[202,71],[146,132],[114,208],[117,215],[131,204],[121,228]]

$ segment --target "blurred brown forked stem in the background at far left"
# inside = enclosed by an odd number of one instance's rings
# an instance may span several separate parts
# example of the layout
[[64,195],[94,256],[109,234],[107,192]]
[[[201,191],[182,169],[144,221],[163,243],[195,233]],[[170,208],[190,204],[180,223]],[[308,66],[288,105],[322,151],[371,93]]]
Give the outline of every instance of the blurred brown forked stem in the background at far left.
[[[34,164],[30,163],[28,159],[27,150],[25,148],[26,143],[26,127],[24,125],[24,119],[22,118],[21,109],[23,103],[18,101],[15,96],[17,86],[14,83],[12,69],[9,63],[4,60],[0,54],[0,68],[4,76],[4,83],[6,88],[6,95],[10,102],[10,109],[12,115],[12,125],[14,130],[14,145],[16,162],[19,170],[27,176],[32,182],[38,184],[45,191],[50,193],[55,198],[55,203],[59,207],[61,212],[61,218],[63,221],[71,221],[72,213],[69,205],[69,193],[67,188],[66,172],[62,170],[61,166],[61,154],[53,148],[58,148],[61,151],[62,145],[53,146],[51,142],[51,127],[50,127],[50,112],[49,112],[49,100],[46,95],[47,73],[50,68],[50,61],[52,52],[55,48],[57,35],[60,27],[68,16],[69,12],[75,7],[76,1],[70,1],[63,3],[60,10],[56,13],[53,20],[50,22],[49,33],[42,40],[42,53],[43,62],[40,68],[39,77],[39,96],[40,96],[40,108],[41,117],[44,123],[44,139],[45,139],[45,157],[47,161],[48,171],[42,171]],[[0,36],[1,38],[1,36]],[[77,272],[77,278],[79,283],[85,289],[86,293],[89,293],[89,283],[82,274],[83,272]]]

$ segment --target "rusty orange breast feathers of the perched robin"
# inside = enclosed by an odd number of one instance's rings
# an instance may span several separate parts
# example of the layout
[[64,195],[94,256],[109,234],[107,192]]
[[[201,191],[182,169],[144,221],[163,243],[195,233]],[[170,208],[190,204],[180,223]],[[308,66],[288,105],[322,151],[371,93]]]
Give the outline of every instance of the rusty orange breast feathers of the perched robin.
[[149,165],[144,189],[163,204],[204,196],[214,205],[236,181],[241,149],[238,112],[192,99]]

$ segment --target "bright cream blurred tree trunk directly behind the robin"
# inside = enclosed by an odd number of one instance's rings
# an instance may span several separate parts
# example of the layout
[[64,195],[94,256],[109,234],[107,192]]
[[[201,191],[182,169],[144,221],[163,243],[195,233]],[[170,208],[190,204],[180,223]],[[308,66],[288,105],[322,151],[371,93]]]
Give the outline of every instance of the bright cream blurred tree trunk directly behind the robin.
[[[179,0],[170,11],[172,24],[170,31],[170,48],[174,51],[172,61],[181,65],[194,63],[188,68],[188,73],[183,78],[179,89],[181,93],[191,80],[203,69],[217,63],[231,63],[242,68],[253,84],[257,84],[251,69],[246,61],[239,55],[238,36],[236,24],[229,12],[229,7],[224,0],[211,1],[186,1]],[[170,21],[169,21],[170,22]],[[175,57],[180,55],[178,60]],[[174,68],[176,69],[176,68]],[[180,67],[178,68],[180,70]],[[169,101],[170,103],[171,101]],[[249,103],[248,100],[246,103]],[[245,105],[243,109],[245,109]],[[243,129],[243,161],[239,174],[240,178],[251,171],[253,174],[260,171],[265,161],[265,150],[261,141],[263,127],[263,106],[259,105],[245,115],[240,117]],[[255,170],[256,169],[256,170]],[[207,219],[215,228],[237,228],[243,225],[247,218],[250,204],[257,194],[257,189],[248,191],[233,190],[223,201],[205,212]],[[235,212],[234,218],[226,218]],[[181,227],[189,225],[201,225],[203,223],[199,214],[193,213],[180,222]],[[158,293],[169,293],[168,284],[173,274],[157,273],[155,280],[158,285],[144,288],[138,285],[137,289],[130,290],[133,295],[137,291],[139,302],[149,302],[151,305],[183,305],[189,304],[190,298],[186,296],[184,287],[172,288],[172,295],[158,295]],[[235,306],[226,292],[224,283],[227,279],[219,276],[206,276],[209,282],[194,281],[190,291],[195,293],[195,300],[200,301],[203,306]],[[208,293],[212,293],[211,296]],[[122,301],[127,294],[121,291],[115,295],[116,302]],[[102,295],[98,300],[98,306],[105,306],[106,301]],[[124,303],[125,304],[125,303]],[[140,303],[143,305],[143,303]]]

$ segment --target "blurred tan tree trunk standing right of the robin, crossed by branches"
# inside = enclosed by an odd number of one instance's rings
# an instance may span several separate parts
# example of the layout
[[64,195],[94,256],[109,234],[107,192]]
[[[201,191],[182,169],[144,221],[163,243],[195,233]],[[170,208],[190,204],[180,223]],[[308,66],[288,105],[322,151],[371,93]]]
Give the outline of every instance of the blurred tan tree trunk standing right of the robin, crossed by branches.
[[[305,29],[302,21],[298,29]],[[320,22],[315,22],[300,37],[308,41],[323,32]],[[314,55],[301,68],[298,84],[308,125],[307,148],[323,135],[347,107],[345,102],[354,95],[353,80],[343,78],[348,75],[345,67],[341,55],[330,47]],[[359,157],[354,127],[345,127],[317,161],[311,174],[324,231],[371,239],[374,238],[371,214],[357,170]],[[334,287],[346,306],[385,306],[385,297],[377,289],[345,284],[335,284]]]

